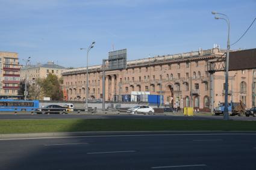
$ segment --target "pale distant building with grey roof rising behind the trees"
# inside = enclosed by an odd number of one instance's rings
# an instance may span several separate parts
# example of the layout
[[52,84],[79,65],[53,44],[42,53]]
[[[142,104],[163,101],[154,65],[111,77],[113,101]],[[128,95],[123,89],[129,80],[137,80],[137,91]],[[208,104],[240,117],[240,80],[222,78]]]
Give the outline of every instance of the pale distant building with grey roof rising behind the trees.
[[54,64],[53,61],[49,61],[46,64],[37,63],[36,65],[27,65],[27,67],[20,68],[20,77],[25,79],[27,71],[27,81],[34,83],[36,79],[45,78],[49,73],[55,74],[60,78],[62,71],[65,69],[65,67]]

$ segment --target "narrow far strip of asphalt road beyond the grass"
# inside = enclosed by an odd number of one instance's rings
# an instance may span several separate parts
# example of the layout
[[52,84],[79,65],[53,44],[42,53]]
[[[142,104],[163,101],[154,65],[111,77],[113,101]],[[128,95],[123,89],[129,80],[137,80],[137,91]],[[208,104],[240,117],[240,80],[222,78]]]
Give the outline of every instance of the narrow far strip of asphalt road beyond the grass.
[[[0,120],[6,119],[166,119],[166,120],[223,120],[223,116],[198,116],[187,117],[184,115],[127,115],[127,114],[0,114]],[[229,117],[231,120],[256,121],[256,117]]]

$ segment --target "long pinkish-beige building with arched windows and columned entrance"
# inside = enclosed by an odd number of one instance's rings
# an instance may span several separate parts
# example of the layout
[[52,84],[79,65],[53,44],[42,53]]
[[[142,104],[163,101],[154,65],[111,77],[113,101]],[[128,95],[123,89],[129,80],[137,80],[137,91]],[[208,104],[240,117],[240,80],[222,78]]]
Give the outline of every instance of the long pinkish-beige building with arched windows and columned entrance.
[[[105,100],[132,91],[149,91],[163,94],[166,105],[210,111],[217,103],[224,102],[225,73],[216,72],[210,79],[206,65],[212,59],[222,58],[224,52],[214,47],[127,61],[126,69],[105,71]],[[62,74],[66,99],[86,100],[86,68],[66,70]],[[255,77],[255,70],[229,71],[228,100],[242,100],[247,108],[255,106]],[[89,67],[89,99],[101,98],[102,65],[95,65]]]

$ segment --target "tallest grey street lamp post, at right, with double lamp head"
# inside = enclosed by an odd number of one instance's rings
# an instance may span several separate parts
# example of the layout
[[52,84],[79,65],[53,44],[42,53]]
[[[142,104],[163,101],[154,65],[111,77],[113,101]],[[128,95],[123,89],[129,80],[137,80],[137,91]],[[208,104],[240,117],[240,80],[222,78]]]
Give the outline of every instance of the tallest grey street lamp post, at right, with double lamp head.
[[214,11],[212,11],[211,13],[225,16],[225,17],[215,16],[215,19],[223,19],[228,24],[228,41],[227,41],[227,44],[226,44],[225,108],[224,108],[224,111],[223,111],[223,115],[224,115],[224,120],[229,120],[229,114],[228,114],[228,66],[229,65],[228,65],[228,62],[229,62],[229,49],[230,49],[230,42],[229,42],[230,23],[229,23],[228,16],[226,16],[226,14],[217,13],[217,12],[214,12]]

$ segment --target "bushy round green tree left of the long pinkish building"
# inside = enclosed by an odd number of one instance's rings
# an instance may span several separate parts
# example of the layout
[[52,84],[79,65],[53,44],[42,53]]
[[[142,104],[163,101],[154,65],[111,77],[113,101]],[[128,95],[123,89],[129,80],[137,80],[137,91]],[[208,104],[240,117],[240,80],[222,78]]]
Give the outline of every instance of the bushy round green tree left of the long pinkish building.
[[54,74],[49,74],[45,79],[39,80],[37,84],[42,87],[45,97],[51,97],[51,100],[63,100],[63,93],[61,90],[61,82]]

